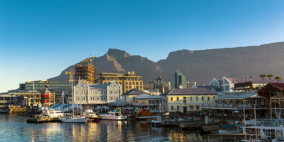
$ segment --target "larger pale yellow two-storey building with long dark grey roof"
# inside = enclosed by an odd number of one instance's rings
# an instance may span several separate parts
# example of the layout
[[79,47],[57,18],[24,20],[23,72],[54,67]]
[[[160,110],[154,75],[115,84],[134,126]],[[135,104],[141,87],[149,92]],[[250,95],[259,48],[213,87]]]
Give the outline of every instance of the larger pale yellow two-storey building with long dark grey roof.
[[163,94],[166,96],[166,111],[200,111],[201,104],[217,98],[218,93],[205,88],[173,88]]

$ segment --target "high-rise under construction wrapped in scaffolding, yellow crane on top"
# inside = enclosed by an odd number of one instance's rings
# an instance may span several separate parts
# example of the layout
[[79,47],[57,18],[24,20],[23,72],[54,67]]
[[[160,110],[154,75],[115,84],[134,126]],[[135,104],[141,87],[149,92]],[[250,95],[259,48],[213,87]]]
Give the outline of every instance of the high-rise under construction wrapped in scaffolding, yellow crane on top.
[[[90,83],[92,83],[95,79],[97,79],[97,68],[92,65],[92,59],[94,57],[88,58],[75,66],[75,80],[86,80]],[[90,64],[84,63],[86,61],[90,60]]]

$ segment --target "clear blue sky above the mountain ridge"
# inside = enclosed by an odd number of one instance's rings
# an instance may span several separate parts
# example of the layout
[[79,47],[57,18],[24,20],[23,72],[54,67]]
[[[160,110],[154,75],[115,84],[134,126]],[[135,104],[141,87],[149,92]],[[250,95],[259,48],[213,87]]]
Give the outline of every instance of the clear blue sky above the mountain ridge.
[[157,62],[182,49],[284,41],[283,0],[1,0],[0,12],[0,92],[109,48]]

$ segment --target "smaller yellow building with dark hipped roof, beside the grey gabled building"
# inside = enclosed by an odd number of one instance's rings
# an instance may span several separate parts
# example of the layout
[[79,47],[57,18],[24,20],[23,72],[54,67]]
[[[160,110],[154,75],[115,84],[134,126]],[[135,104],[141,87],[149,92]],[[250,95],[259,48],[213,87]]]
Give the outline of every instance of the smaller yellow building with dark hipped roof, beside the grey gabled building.
[[141,94],[147,94],[149,95],[148,93],[142,91],[142,90],[139,90],[137,88],[133,88],[125,93],[123,93],[121,95],[122,97],[122,101],[123,103],[128,103],[130,106],[132,106],[132,100],[135,99],[136,96],[138,95],[141,95]]

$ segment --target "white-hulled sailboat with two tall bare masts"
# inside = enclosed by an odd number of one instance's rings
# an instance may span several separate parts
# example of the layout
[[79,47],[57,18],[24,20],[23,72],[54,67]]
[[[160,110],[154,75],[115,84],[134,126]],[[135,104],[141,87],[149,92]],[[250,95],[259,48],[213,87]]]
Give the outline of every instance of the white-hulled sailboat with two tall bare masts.
[[[84,116],[75,116],[74,115],[74,95],[73,95],[73,76],[71,75],[71,79],[72,79],[72,116],[66,116],[64,118],[59,118],[62,122],[69,122],[69,123],[86,123],[86,121],[90,118],[90,117],[84,117]],[[79,77],[79,85],[80,85],[80,98],[81,98],[81,85],[82,82],[80,80]],[[81,106],[81,99],[80,99],[80,106]],[[82,114],[82,109],[81,113]]]

